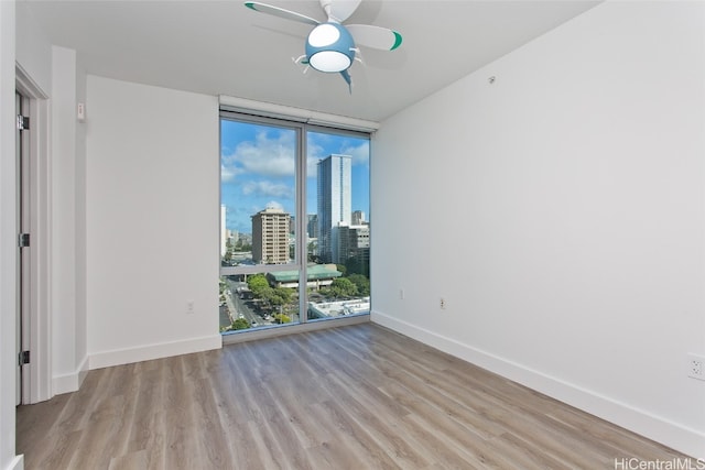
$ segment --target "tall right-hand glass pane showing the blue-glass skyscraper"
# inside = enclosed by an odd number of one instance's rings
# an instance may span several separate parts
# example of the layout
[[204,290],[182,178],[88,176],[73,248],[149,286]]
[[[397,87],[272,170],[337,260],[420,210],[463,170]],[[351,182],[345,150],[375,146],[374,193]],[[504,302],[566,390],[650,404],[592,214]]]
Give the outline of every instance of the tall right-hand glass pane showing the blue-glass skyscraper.
[[308,270],[339,276],[308,294],[308,318],[369,314],[369,138],[310,131],[306,218]]

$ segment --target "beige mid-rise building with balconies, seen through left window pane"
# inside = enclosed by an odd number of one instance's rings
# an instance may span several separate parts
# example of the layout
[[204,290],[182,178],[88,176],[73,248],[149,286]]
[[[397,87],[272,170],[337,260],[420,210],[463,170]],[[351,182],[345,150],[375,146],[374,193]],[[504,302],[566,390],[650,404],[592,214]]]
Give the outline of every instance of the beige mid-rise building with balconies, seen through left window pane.
[[268,207],[252,216],[252,261],[267,264],[289,263],[291,215]]

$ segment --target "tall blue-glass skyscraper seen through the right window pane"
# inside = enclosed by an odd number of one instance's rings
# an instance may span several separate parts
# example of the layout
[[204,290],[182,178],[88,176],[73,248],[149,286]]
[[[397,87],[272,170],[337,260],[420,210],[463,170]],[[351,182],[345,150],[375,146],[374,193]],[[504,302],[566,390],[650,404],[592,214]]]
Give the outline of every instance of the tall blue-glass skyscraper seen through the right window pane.
[[328,155],[318,162],[318,256],[324,263],[340,263],[338,225],[350,225],[352,207],[352,157]]

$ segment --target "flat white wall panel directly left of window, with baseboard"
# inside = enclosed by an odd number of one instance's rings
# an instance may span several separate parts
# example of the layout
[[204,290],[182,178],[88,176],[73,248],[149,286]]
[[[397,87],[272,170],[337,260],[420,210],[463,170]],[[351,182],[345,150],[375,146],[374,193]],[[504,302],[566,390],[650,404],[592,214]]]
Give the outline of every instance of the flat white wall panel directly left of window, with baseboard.
[[86,116],[90,368],[219,348],[217,98],[89,75]]

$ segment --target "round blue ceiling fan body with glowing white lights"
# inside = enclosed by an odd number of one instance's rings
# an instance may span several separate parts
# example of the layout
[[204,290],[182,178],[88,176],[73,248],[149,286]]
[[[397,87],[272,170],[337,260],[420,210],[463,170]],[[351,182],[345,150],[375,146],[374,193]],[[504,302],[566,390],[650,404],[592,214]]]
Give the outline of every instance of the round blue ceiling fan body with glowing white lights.
[[306,40],[308,64],[318,72],[346,70],[355,59],[352,36],[339,23],[319,24]]

